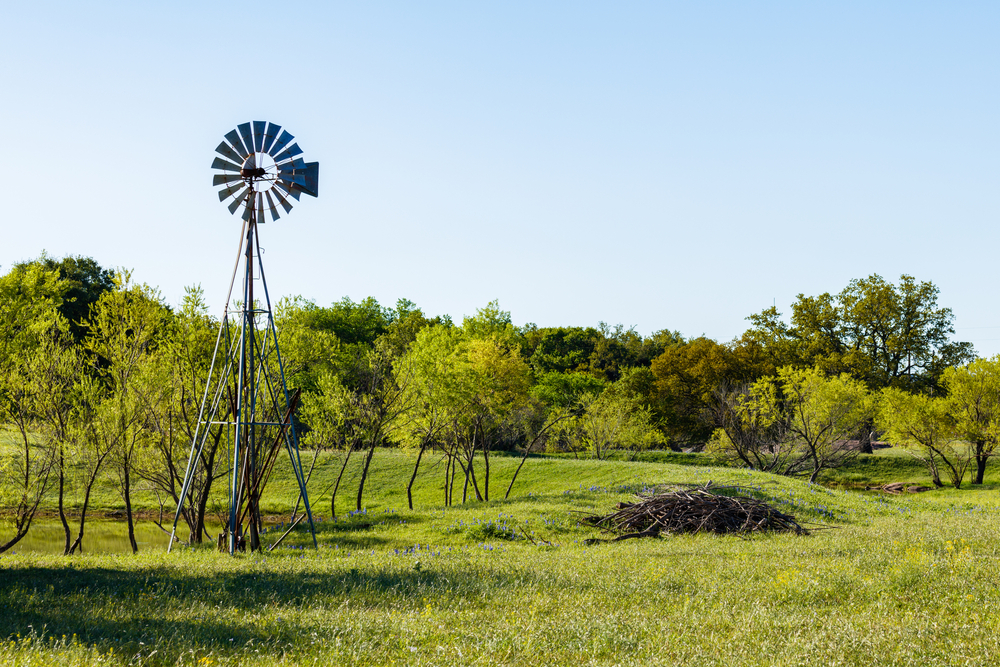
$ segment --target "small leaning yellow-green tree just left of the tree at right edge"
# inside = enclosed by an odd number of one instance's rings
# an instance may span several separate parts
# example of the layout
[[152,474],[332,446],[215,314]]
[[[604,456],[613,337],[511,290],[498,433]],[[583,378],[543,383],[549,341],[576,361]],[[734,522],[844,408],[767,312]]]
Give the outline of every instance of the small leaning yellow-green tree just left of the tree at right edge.
[[959,442],[951,406],[941,396],[911,394],[898,387],[882,390],[876,424],[885,437],[902,445],[927,466],[934,486],[941,483],[942,467],[960,488],[971,462],[972,449]]

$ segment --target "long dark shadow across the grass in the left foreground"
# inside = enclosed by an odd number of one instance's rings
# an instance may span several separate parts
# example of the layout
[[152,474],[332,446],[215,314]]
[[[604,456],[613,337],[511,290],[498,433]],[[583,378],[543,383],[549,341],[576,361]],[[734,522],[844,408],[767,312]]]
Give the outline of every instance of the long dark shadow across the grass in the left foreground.
[[[307,610],[331,597],[361,606],[402,603],[418,608],[428,588],[468,588],[471,593],[482,584],[473,572],[443,574],[430,568],[194,575],[167,567],[8,565],[0,569],[0,638],[32,632],[76,635],[84,645],[102,652],[114,648],[117,654],[148,653],[155,647],[156,655],[144,664],[175,664],[191,650],[230,652],[248,644],[280,655],[315,630],[282,620],[282,610]],[[243,620],[249,617],[252,623]]]

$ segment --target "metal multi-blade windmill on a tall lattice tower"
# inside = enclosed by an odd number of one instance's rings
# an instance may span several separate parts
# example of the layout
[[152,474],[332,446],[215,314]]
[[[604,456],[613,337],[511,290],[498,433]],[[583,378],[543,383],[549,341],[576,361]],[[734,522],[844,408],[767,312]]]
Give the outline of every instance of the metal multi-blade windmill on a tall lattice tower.
[[[316,544],[295,429],[299,394],[290,394],[285,382],[258,232],[268,215],[272,222],[281,217],[279,207],[287,214],[292,210],[291,200],[319,194],[319,163],[304,162],[302,149],[293,139],[280,125],[253,121],[226,134],[215,149],[222,157],[212,163],[220,172],[212,177],[212,185],[222,186],[219,201],[232,200],[230,213],[242,211],[243,229],[168,551],[185,504],[194,509],[192,480],[210,437],[228,444],[231,456],[229,518],[224,533],[229,553],[248,546],[251,550],[261,548],[260,498],[282,449],[291,461],[305,507],[302,516],[309,519]],[[242,291],[234,305],[233,290],[241,266]],[[258,282],[261,289],[255,292]]]

